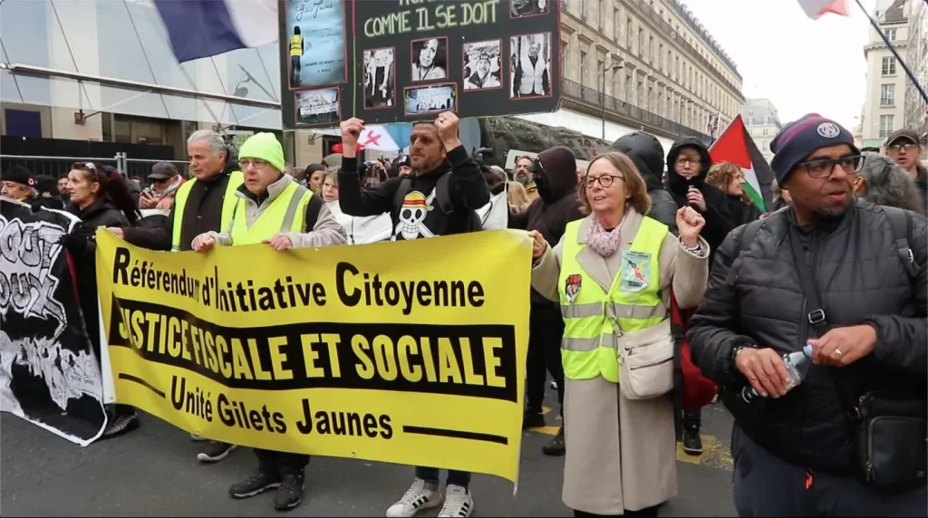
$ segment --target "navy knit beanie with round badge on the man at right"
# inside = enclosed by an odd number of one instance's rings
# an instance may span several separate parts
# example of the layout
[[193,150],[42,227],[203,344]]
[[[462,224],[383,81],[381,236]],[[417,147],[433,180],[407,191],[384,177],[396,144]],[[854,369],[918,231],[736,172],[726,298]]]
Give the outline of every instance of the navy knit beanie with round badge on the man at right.
[[841,124],[818,113],[810,113],[783,126],[770,143],[770,150],[774,153],[770,167],[777,175],[777,183],[782,185],[786,182],[796,165],[817,149],[840,144],[850,145],[855,153],[860,153],[854,145],[854,135]]

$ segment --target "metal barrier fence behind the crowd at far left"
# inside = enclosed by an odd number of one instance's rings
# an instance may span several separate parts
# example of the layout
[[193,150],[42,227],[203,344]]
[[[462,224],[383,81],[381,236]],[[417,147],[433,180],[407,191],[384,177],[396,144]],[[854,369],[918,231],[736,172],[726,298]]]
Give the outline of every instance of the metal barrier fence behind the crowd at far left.
[[93,162],[98,165],[109,165],[122,171],[126,177],[139,176],[148,178],[151,168],[159,162],[174,164],[177,171],[187,178],[189,164],[183,160],[157,160],[151,158],[128,158],[125,153],[117,153],[114,157],[46,157],[38,155],[0,155],[0,171],[6,171],[13,165],[20,165],[34,175],[48,174],[54,178],[67,176],[74,162]]

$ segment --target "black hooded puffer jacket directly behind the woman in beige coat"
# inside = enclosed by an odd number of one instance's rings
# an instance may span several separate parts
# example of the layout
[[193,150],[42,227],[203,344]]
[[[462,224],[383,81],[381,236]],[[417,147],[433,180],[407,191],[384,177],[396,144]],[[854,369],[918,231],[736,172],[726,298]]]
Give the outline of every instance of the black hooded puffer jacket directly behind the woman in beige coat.
[[612,144],[612,150],[625,154],[635,162],[635,167],[648,186],[651,196],[651,211],[648,216],[661,221],[677,234],[677,203],[664,187],[664,146],[651,133],[634,132],[622,136]]

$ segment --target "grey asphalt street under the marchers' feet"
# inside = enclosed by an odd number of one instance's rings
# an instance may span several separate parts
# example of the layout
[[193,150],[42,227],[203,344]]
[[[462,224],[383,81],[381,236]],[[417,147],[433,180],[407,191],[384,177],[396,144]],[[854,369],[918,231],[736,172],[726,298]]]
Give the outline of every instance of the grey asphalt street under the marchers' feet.
[[[548,399],[554,393],[548,391]],[[213,465],[196,460],[200,443],[150,415],[126,436],[82,449],[10,414],[0,429],[0,512],[4,516],[275,516],[271,494],[233,500],[228,486],[255,467],[248,449]],[[561,503],[563,458],[542,445],[557,431],[525,433],[519,491],[502,479],[475,475],[475,516],[571,516]],[[720,404],[703,410],[705,453],[677,458],[679,491],[662,516],[733,516],[731,418]],[[317,457],[306,470],[303,505],[294,516],[382,516],[402,496],[412,471],[393,464]],[[423,512],[435,516],[437,510]]]

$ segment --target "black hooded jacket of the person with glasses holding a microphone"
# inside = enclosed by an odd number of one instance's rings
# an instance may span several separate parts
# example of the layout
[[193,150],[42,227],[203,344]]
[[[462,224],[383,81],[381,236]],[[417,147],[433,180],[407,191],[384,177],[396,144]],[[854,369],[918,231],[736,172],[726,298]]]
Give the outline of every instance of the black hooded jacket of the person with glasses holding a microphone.
[[[677,174],[675,169],[677,157],[684,147],[697,150],[701,157],[699,174],[690,180]],[[687,200],[687,191],[690,190],[690,186],[699,189],[702,198],[705,199],[705,210],[700,210],[705,219],[705,227],[702,228],[701,235],[709,244],[711,252],[715,252],[735,225],[728,213],[728,200],[725,199],[725,194],[715,185],[705,183],[705,177],[709,174],[711,166],[712,158],[709,157],[709,149],[696,137],[678,139],[674,145],[670,146],[670,152],[667,153],[667,187],[670,189],[670,194],[674,196],[677,208],[680,208],[690,204]],[[699,209],[696,208],[696,210]]]

